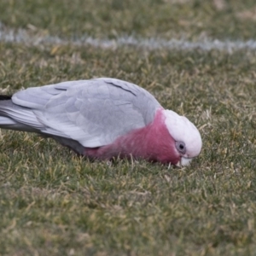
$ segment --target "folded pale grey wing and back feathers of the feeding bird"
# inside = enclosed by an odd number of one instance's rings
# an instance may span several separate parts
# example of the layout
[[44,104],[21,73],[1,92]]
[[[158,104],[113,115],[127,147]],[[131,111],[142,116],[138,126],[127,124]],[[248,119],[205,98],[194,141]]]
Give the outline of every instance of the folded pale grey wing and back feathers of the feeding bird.
[[21,90],[12,100],[28,112],[32,109],[29,125],[34,122],[35,129],[88,148],[113,143],[117,137],[148,125],[160,108],[147,90],[118,79],[46,85]]

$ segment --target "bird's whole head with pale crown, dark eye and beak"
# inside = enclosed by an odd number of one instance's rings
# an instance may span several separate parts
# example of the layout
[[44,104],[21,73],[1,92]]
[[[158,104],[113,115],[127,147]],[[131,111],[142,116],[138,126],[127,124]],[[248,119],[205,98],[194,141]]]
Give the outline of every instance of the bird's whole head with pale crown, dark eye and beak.
[[201,135],[194,124],[172,110],[164,110],[166,127],[175,141],[175,152],[179,156],[177,166],[189,165],[201,152]]

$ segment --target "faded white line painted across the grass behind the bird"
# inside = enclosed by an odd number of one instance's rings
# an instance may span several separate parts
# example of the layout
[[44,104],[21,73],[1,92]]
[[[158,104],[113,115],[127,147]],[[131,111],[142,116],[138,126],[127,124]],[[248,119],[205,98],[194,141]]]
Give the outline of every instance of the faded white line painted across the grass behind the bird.
[[123,36],[115,39],[100,39],[83,36],[80,38],[58,38],[55,36],[35,35],[24,29],[12,30],[3,29],[0,23],[0,42],[21,43],[27,45],[40,44],[73,44],[78,46],[91,45],[99,48],[117,48],[122,46],[132,46],[143,49],[201,49],[209,51],[218,49],[232,53],[240,49],[256,49],[255,40],[247,41],[220,41],[218,39],[211,40],[205,38],[195,42],[185,39],[170,39],[163,38],[134,38],[132,36]]

